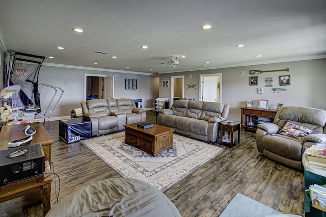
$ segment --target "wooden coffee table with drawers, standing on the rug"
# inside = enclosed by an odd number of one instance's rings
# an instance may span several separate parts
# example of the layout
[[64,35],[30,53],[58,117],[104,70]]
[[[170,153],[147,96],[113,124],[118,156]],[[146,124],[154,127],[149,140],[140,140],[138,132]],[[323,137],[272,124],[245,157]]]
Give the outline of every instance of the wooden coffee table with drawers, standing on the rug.
[[[144,123],[144,122],[140,122]],[[154,157],[156,154],[173,148],[174,129],[153,124],[153,127],[143,129],[139,123],[126,124],[124,142],[137,147]]]

